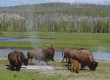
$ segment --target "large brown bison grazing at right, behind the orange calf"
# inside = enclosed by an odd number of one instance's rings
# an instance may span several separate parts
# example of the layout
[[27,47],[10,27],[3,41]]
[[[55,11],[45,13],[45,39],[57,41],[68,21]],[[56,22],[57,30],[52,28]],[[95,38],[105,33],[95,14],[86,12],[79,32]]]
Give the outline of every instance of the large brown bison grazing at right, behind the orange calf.
[[94,60],[90,51],[86,49],[72,49],[68,54],[68,66],[70,64],[70,58],[79,61],[81,64],[81,69],[88,66],[90,70],[95,71],[98,63]]

